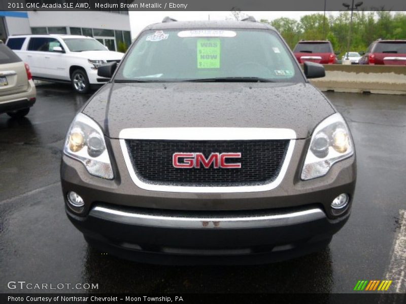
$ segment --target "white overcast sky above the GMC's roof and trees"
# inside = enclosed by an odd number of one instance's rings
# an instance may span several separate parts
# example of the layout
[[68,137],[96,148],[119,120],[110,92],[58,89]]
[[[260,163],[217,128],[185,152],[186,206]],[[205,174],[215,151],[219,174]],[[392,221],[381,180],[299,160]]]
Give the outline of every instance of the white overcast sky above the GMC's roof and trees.
[[[258,21],[261,19],[274,20],[279,17],[288,17],[299,20],[301,16],[321,12],[243,12],[246,15],[252,15]],[[337,14],[338,12],[326,12],[326,16]],[[135,38],[138,33],[148,24],[161,22],[163,17],[170,16],[177,20],[225,20],[232,18],[230,12],[135,12],[130,11],[131,35]]]

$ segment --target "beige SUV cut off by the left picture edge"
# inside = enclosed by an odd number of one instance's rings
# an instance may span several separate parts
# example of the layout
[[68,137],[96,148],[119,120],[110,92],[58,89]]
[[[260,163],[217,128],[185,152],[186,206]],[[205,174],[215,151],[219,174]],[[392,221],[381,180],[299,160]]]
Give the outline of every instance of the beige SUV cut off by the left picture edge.
[[36,94],[28,64],[0,41],[0,114],[24,117]]

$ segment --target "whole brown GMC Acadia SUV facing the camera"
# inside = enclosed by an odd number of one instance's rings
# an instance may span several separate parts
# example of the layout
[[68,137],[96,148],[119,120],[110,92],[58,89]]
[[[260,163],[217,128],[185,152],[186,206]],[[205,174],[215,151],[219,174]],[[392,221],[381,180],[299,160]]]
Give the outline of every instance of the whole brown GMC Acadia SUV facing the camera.
[[153,263],[264,263],[348,220],[353,140],[280,34],[253,18],[147,26],[75,117],[61,180],[94,248]]

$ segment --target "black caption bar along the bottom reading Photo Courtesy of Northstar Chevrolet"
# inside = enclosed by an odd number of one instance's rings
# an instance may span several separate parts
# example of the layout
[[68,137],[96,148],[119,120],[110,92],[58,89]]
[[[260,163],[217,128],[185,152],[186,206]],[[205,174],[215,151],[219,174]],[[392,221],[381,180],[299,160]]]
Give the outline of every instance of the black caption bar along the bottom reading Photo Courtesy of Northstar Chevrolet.
[[[248,282],[247,282],[248,283]],[[267,294],[118,294],[118,293],[3,293],[0,303],[172,303],[172,304],[224,304],[224,303],[312,303],[312,304],[404,304],[404,294],[393,293],[267,293]]]

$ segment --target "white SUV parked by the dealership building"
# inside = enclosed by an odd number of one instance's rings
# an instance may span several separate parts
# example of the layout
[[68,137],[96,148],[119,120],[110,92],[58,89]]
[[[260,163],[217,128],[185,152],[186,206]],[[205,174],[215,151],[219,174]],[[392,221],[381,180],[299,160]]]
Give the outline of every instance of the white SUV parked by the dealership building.
[[97,67],[119,62],[124,55],[79,35],[16,35],[7,39],[7,46],[29,64],[34,79],[71,83],[78,93],[104,84],[107,79],[97,76]]

